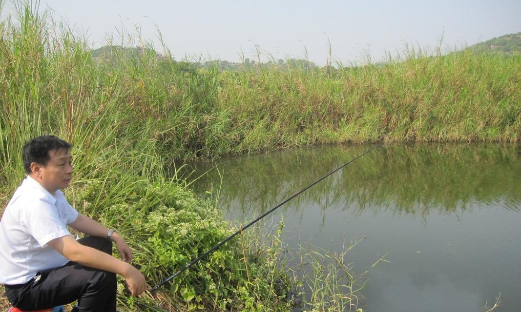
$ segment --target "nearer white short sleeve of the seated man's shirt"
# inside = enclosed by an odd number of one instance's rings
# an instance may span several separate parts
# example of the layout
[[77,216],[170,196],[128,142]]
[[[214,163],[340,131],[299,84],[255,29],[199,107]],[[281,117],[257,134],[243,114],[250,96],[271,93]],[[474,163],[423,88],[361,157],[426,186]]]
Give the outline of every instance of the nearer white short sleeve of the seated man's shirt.
[[53,239],[70,235],[56,206],[45,200],[27,205],[20,214],[20,221],[42,248]]

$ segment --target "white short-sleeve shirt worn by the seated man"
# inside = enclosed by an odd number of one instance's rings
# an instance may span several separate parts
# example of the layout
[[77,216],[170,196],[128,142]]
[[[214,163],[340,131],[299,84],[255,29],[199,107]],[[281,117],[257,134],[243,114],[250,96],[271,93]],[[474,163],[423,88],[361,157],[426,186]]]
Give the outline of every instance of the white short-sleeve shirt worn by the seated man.
[[60,190],[51,194],[24,179],[0,221],[0,284],[23,284],[38,271],[65,265],[68,259],[47,243],[70,235],[67,224],[77,217]]

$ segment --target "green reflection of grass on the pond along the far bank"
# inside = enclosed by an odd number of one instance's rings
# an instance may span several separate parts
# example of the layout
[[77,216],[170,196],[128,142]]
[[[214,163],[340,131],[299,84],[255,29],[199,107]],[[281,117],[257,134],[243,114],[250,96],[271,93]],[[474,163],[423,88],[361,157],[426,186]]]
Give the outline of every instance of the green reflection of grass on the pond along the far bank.
[[[234,201],[246,212],[267,211],[368,148],[301,148],[219,161],[219,170],[224,173],[221,203]],[[327,209],[337,203],[361,210],[393,209],[426,215],[432,210],[465,210],[476,201],[516,209],[515,203],[521,201],[518,159],[515,145],[384,145],[282,209],[298,211],[308,203]],[[206,165],[199,165],[201,171],[206,170]],[[219,184],[220,177],[210,171],[198,181],[197,190],[202,193],[213,181]]]

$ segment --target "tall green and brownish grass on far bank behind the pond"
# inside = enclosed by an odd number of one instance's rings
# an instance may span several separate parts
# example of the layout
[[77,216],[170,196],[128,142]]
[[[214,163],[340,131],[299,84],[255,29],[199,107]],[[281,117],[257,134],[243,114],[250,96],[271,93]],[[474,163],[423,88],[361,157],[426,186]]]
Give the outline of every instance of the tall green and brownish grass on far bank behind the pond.
[[521,56],[467,49],[429,57],[408,49],[386,64],[337,70],[288,61],[240,71],[157,53],[133,57],[147,69],[122,82],[137,118],[152,115],[157,132],[168,129],[158,148],[175,159],[320,143],[516,141],[521,134]]

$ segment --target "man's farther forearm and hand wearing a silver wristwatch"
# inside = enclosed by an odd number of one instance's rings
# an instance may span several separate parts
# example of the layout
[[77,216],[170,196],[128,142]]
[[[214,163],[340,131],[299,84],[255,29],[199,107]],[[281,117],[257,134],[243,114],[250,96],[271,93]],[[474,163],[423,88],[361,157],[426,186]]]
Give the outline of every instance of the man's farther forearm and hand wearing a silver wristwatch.
[[[78,217],[74,222],[69,224],[72,228],[85,233],[90,236],[97,237],[107,237],[108,228],[106,226],[97,223],[93,219],[88,216],[78,214]],[[125,242],[125,240],[119,235],[119,233],[114,232],[112,236],[110,236],[110,240],[116,243],[116,249],[119,252],[121,259],[125,262],[130,263],[132,260],[132,252],[130,251],[129,246]]]

